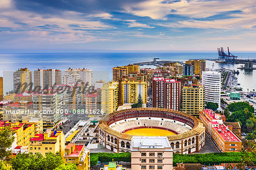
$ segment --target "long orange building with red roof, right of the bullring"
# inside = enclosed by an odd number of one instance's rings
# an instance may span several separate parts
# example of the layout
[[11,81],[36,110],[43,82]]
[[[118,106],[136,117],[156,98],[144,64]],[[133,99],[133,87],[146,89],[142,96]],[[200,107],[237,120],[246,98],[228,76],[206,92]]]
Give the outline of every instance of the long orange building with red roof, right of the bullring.
[[209,137],[221,152],[240,152],[241,139],[233,133],[232,126],[224,124],[225,116],[216,114],[210,109],[204,109],[199,114]]

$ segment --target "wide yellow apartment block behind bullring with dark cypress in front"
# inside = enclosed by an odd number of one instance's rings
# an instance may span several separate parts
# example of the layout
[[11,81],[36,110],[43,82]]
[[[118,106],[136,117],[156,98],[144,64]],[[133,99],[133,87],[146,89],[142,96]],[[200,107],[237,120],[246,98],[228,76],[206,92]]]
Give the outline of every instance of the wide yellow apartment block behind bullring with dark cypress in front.
[[147,103],[147,82],[122,82],[122,103],[137,103],[141,94],[144,104]]

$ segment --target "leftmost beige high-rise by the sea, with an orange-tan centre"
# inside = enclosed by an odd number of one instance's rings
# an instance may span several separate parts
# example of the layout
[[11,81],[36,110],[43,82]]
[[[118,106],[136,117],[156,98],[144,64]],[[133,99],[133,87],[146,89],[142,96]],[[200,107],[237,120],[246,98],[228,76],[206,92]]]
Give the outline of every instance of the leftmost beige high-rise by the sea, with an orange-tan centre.
[[18,69],[13,73],[13,87],[16,94],[32,90],[32,86],[30,86],[30,83],[32,83],[31,73],[32,71],[27,68]]

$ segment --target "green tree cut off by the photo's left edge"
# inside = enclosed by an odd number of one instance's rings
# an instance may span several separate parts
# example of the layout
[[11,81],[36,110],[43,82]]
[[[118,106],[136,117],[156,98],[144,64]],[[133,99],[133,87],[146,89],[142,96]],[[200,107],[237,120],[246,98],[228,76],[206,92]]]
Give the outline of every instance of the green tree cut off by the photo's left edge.
[[13,145],[14,139],[14,132],[10,127],[0,130],[0,160],[3,160],[11,154],[11,150],[8,148]]

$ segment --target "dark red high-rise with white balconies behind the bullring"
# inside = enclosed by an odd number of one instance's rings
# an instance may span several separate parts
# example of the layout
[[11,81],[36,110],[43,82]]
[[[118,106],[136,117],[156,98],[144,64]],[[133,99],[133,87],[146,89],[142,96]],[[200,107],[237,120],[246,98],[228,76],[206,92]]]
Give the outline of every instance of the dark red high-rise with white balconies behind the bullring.
[[179,111],[181,83],[163,77],[153,78],[152,105],[154,108],[167,108]]

